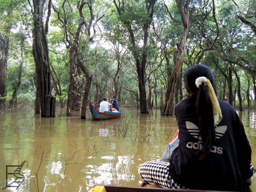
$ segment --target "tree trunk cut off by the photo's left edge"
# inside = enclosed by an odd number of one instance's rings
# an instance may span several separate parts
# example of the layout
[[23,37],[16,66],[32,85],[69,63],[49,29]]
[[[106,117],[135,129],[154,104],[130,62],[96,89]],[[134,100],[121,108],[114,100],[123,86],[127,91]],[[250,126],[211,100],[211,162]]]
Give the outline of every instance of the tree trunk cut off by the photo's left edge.
[[7,94],[6,73],[7,73],[8,55],[9,55],[9,36],[0,35],[0,108],[5,103],[5,97]]

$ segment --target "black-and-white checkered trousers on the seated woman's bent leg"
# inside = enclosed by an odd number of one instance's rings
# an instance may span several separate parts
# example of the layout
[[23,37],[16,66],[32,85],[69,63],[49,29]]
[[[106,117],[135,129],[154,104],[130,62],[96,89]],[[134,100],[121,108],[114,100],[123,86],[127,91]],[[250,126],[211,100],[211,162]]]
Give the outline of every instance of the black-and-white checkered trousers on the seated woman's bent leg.
[[169,175],[170,163],[148,161],[141,165],[140,174],[145,183],[158,185],[162,188],[186,189],[176,183]]

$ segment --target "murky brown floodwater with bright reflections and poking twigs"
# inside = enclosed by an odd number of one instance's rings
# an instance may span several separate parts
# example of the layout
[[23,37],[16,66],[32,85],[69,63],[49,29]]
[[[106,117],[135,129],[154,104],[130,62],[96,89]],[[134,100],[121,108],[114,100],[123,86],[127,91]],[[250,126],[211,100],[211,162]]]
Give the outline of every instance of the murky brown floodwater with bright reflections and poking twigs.
[[[65,114],[59,111],[59,114]],[[61,116],[61,115],[60,115]],[[240,113],[256,166],[256,111]],[[173,117],[159,110],[141,114],[125,108],[120,119],[91,121],[41,118],[30,113],[0,114],[0,189],[6,165],[20,165],[25,176],[18,191],[87,191],[95,184],[138,186],[139,165],[158,160],[176,132]],[[16,167],[8,167],[12,172]],[[14,180],[8,175],[9,180]],[[256,179],[252,186],[256,192]],[[16,184],[17,185],[17,184]],[[16,191],[8,187],[3,191]]]

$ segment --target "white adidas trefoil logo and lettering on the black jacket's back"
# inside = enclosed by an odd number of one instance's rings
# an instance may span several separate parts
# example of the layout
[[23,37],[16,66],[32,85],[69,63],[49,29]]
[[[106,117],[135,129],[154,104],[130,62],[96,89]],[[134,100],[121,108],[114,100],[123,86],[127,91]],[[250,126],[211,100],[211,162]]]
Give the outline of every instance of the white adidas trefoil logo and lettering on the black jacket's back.
[[[191,149],[193,148],[193,149],[201,150],[203,145],[202,145],[202,137],[199,134],[199,128],[194,123],[191,123],[189,121],[186,121],[186,127],[187,127],[187,130],[189,131],[189,133],[191,135],[193,135],[193,137],[198,139],[198,142],[195,142],[195,143],[188,142],[187,145],[186,145],[187,148],[191,148]],[[216,139],[220,139],[220,137],[222,137],[226,133],[226,130],[227,130],[226,125],[215,128]],[[213,152],[213,153],[222,154],[223,153],[223,148],[213,145],[210,151]]]

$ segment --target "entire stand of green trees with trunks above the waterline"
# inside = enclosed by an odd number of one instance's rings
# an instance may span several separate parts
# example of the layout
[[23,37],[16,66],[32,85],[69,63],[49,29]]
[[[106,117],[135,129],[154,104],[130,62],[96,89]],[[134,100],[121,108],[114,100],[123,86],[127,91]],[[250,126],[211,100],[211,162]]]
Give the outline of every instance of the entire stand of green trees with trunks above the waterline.
[[37,112],[51,97],[85,118],[88,102],[115,92],[123,107],[172,115],[184,70],[199,63],[214,72],[218,98],[255,106],[254,2],[0,0],[0,108],[34,102],[48,86]]

